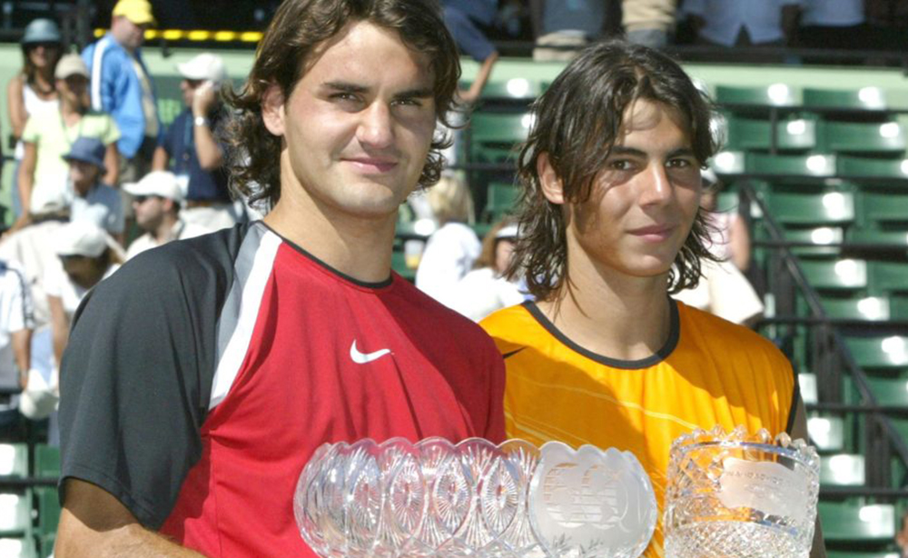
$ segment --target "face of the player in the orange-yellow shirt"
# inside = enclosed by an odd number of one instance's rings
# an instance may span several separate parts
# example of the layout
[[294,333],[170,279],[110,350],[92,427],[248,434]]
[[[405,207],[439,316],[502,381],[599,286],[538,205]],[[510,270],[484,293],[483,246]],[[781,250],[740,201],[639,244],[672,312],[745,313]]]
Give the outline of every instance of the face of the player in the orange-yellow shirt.
[[666,274],[700,203],[700,168],[682,120],[666,105],[638,100],[589,199],[568,206],[568,258],[600,274]]

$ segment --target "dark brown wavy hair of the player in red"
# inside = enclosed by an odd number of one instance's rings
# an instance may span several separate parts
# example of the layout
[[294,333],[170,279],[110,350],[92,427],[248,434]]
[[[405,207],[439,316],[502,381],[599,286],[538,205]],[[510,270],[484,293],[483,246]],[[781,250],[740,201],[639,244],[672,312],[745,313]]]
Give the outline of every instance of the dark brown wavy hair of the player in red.
[[[449,125],[446,118],[455,104],[460,63],[435,0],[286,0],[262,37],[245,85],[239,92],[224,91],[232,110],[220,134],[229,147],[227,166],[234,192],[271,207],[281,198],[281,137],[265,128],[262,97],[276,84],[284,99],[289,98],[319,46],[360,21],[393,29],[410,48],[429,55],[436,114]],[[439,180],[441,150],[449,144],[447,135],[433,138],[420,186]]]

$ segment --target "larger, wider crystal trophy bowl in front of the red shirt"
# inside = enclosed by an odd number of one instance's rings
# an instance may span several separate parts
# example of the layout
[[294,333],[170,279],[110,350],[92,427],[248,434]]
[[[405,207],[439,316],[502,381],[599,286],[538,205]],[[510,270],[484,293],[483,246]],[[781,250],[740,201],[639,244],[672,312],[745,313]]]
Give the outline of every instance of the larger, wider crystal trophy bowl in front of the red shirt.
[[656,526],[632,453],[478,438],[323,444],[293,512],[326,558],[637,558]]

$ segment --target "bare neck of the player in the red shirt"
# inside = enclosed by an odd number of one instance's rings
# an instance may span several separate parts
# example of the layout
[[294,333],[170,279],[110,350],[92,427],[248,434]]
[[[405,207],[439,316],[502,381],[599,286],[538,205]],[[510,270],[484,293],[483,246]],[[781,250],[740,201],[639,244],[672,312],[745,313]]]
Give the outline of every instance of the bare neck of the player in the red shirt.
[[[281,185],[284,191],[289,187],[302,186]],[[379,283],[390,275],[397,214],[359,217],[310,196],[282,195],[264,222],[325,264],[358,281]]]

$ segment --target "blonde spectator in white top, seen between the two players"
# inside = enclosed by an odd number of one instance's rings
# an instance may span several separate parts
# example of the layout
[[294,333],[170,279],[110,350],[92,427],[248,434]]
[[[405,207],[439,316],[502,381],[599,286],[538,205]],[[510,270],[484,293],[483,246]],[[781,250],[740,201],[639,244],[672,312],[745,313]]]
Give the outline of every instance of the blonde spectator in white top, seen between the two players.
[[469,222],[473,198],[459,176],[442,176],[426,194],[439,228],[429,236],[416,270],[416,288],[451,306],[454,287],[473,268],[482,245]]

